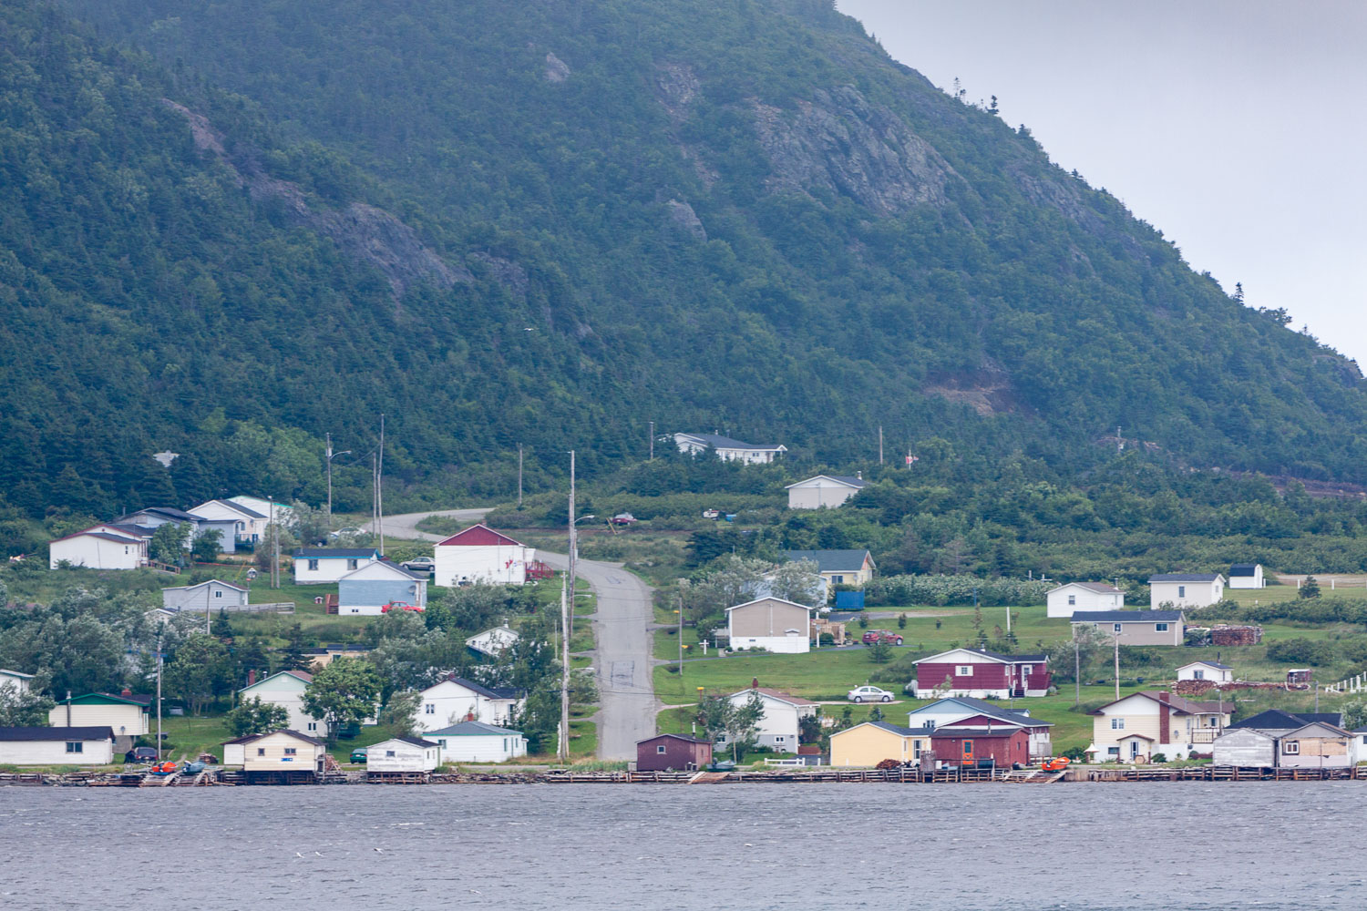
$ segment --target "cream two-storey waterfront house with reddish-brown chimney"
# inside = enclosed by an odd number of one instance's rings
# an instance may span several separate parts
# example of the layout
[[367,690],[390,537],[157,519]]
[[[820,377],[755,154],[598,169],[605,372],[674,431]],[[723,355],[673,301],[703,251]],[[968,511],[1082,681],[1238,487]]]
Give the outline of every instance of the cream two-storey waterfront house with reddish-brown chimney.
[[1154,690],[1135,692],[1091,713],[1087,753],[1096,762],[1148,762],[1155,753],[1185,759],[1193,750],[1210,753],[1233,710],[1233,703],[1193,702]]

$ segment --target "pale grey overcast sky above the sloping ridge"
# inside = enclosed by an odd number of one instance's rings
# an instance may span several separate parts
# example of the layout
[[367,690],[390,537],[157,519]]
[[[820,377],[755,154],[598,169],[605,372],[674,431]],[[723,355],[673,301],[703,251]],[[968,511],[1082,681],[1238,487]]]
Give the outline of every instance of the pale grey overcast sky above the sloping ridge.
[[1367,1],[838,0],[1197,272],[1367,367]]

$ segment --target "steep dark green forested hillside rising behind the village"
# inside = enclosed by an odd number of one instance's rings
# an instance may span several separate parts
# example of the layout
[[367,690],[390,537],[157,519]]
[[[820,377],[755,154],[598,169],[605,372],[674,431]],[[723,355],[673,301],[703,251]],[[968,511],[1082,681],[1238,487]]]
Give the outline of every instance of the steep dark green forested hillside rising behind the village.
[[60,8],[0,11],[12,507],[317,500],[381,411],[396,483],[481,494],[648,421],[1363,477],[1356,365],[830,3]]

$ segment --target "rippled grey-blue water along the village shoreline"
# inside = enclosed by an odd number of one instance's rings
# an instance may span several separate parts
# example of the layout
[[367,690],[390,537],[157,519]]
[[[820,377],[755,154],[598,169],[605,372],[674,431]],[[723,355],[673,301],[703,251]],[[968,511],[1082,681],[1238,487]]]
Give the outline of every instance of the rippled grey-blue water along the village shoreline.
[[1360,910],[1364,810],[1356,781],[0,788],[0,908]]

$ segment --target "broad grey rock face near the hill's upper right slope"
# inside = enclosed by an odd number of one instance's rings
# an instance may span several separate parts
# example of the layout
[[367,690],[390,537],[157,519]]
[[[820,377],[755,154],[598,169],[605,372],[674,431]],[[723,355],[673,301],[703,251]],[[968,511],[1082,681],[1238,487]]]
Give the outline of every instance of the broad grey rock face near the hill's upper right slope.
[[883,214],[945,205],[954,175],[938,152],[883,105],[853,86],[817,90],[796,112],[752,101],[771,190],[848,195]]

